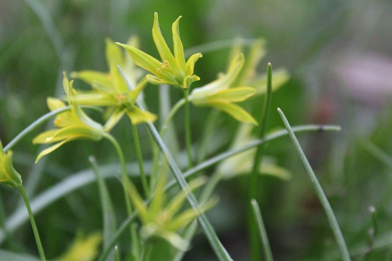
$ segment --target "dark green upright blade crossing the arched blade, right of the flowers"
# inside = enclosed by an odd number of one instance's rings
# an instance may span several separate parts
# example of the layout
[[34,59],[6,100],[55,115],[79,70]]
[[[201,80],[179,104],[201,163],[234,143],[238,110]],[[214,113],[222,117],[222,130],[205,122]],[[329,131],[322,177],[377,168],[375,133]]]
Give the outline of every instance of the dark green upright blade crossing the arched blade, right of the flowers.
[[[271,107],[271,97],[272,97],[272,66],[269,63],[267,67],[267,94],[264,102],[264,111],[261,115],[260,125],[259,125],[259,139],[264,137],[264,132],[266,129],[268,115],[270,113]],[[249,191],[248,191],[248,202],[256,198],[257,188],[258,188],[258,172],[260,169],[261,158],[263,155],[263,146],[257,147],[252,172],[249,177]],[[248,210],[248,232],[250,239],[250,257],[252,261],[257,261],[261,259],[261,249],[260,249],[260,237],[257,235],[257,223],[254,219],[252,212],[252,207],[249,206]]]

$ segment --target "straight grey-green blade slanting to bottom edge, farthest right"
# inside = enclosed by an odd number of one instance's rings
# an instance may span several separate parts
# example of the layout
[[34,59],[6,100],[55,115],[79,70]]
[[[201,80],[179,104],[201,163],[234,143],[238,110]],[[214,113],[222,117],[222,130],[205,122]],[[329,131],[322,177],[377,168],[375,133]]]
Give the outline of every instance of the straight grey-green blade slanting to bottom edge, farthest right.
[[305,153],[303,152],[301,145],[299,144],[297,138],[295,137],[295,134],[293,132],[292,127],[290,126],[289,121],[286,119],[286,116],[282,112],[280,108],[278,108],[278,113],[280,115],[280,118],[282,118],[283,124],[285,125],[287,132],[289,134],[290,139],[294,143],[294,147],[298,152],[298,155],[302,161],[302,164],[304,165],[306,172],[308,173],[309,179],[312,182],[312,185],[314,189],[316,190],[317,196],[319,197],[320,203],[325,211],[325,214],[327,215],[329,224],[332,228],[332,232],[334,233],[335,239],[338,243],[338,246],[341,251],[341,256],[344,261],[349,261],[350,259],[350,254],[348,253],[348,249],[346,246],[346,243],[344,241],[342,231],[340,230],[338,220],[336,219],[336,216],[331,208],[331,205],[328,202],[328,199],[324,193],[324,191],[321,188],[321,185],[316,177],[315,172],[312,169],[312,166],[310,166],[308,159],[305,156]]

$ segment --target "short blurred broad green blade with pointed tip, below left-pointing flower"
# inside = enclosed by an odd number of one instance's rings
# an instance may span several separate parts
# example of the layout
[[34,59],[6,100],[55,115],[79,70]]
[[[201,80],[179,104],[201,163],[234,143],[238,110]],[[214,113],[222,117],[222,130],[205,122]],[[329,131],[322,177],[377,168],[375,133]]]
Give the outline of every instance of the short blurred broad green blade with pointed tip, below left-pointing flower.
[[109,191],[103,180],[102,174],[95,160],[95,157],[90,156],[89,161],[93,168],[94,174],[98,183],[99,196],[102,206],[103,215],[103,248],[108,247],[110,239],[113,238],[116,232],[116,214],[113,208],[113,203],[109,195]]

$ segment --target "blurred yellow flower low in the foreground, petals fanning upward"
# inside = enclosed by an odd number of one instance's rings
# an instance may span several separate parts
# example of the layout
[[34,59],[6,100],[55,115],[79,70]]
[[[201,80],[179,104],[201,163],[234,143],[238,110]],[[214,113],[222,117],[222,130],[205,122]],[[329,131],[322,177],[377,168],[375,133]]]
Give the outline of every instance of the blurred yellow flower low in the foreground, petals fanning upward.
[[[189,183],[189,191],[180,191],[172,200],[165,203],[165,183],[166,175],[160,173],[157,184],[153,191],[149,206],[144,204],[142,197],[136,190],[133,184],[128,183],[128,190],[131,201],[138,211],[137,214],[142,222],[140,229],[141,236],[148,240],[149,238],[159,237],[169,242],[173,247],[187,250],[189,242],[182,238],[177,231],[193,221],[197,215],[201,214],[194,209],[187,209],[180,213],[179,210],[183,205],[186,196],[192,190],[202,186],[205,183],[205,178],[199,177]],[[216,199],[210,199],[200,206],[200,211],[204,212],[216,204]]]

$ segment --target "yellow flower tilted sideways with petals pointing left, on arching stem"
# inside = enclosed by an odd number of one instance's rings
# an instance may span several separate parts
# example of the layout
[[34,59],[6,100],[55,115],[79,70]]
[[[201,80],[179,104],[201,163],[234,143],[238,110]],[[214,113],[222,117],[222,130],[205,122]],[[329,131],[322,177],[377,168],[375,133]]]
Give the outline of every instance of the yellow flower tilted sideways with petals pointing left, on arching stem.
[[[87,139],[99,141],[104,134],[103,127],[98,122],[90,119],[79,107],[73,103],[72,96],[74,90],[72,88],[73,81],[69,82],[64,72],[63,87],[68,97],[68,103],[71,107],[69,111],[65,111],[57,115],[54,119],[55,129],[45,131],[33,139],[33,143],[52,143],[56,144],[44,149],[37,157],[36,163],[43,156],[54,151],[66,142],[78,139]],[[51,111],[65,107],[65,103],[59,99],[48,98],[48,107]]]

